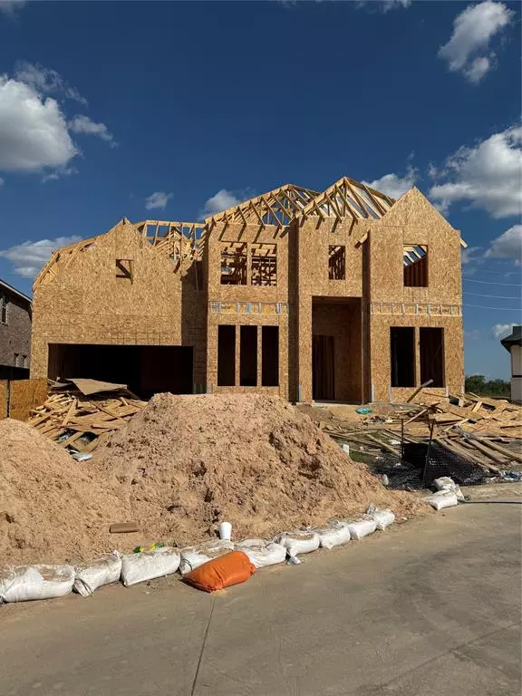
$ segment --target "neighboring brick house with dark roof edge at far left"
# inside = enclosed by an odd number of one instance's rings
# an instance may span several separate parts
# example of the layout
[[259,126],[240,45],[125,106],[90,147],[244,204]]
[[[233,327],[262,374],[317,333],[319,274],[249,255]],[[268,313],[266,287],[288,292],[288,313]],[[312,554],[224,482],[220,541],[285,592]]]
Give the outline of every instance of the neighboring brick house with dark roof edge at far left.
[[0,379],[29,377],[31,298],[0,280]]

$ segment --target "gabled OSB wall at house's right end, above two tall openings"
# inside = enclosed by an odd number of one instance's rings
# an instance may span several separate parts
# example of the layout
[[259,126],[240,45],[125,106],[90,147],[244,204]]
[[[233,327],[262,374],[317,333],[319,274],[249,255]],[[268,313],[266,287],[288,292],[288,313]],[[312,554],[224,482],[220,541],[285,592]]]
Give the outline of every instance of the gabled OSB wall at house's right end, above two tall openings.
[[[368,223],[368,306],[370,382],[376,401],[400,400],[411,389],[391,390],[391,326],[434,326],[444,329],[444,376],[450,391],[464,383],[461,317],[460,236],[417,189],[398,200],[380,221]],[[404,287],[402,248],[428,247],[428,286]],[[372,305],[394,304],[394,314],[372,314]],[[401,304],[419,304],[419,315],[401,315]],[[429,314],[440,306],[454,315]],[[453,308],[453,309],[451,309]],[[442,310],[444,311],[444,309]],[[420,384],[419,331],[416,331],[416,384]]]

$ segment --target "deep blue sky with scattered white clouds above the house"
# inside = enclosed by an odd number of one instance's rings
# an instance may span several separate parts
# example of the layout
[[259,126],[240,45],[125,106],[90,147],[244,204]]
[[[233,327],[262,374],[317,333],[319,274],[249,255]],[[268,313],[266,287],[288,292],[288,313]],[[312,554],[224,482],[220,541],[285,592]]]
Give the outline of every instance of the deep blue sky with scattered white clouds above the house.
[[[417,185],[469,244],[466,372],[520,322],[515,3],[0,0],[0,277],[123,216]],[[502,285],[501,285],[502,284]],[[497,337],[496,337],[497,336]]]

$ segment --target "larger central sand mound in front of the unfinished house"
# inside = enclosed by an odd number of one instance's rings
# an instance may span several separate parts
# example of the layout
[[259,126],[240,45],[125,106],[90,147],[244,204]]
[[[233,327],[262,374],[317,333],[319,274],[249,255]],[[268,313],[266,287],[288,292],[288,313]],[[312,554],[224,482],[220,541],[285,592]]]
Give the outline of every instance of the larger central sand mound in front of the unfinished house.
[[222,520],[236,538],[270,536],[369,503],[407,515],[420,507],[383,488],[294,406],[263,395],[158,394],[93,466],[146,535],[179,545]]

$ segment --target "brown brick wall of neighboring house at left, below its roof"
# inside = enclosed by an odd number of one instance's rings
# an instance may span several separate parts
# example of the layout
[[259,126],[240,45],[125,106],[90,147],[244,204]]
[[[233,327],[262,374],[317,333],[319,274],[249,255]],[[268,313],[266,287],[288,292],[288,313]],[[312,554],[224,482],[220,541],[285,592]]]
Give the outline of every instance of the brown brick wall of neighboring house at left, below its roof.
[[[7,299],[7,322],[0,316],[0,365],[14,367],[14,354],[20,355],[18,367],[29,367],[31,356],[31,313],[29,304],[0,285],[0,296]],[[26,356],[25,365],[22,356]]]

